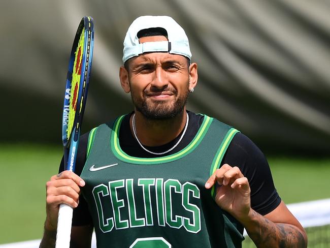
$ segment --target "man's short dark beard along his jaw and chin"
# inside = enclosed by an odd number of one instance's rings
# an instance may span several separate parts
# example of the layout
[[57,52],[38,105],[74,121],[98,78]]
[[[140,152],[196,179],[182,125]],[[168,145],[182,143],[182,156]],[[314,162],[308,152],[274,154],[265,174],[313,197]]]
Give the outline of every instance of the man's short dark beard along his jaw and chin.
[[182,113],[184,106],[188,100],[188,87],[184,94],[177,98],[177,91],[172,90],[175,96],[173,102],[153,102],[148,99],[146,92],[143,92],[143,98],[138,99],[134,97],[134,92],[131,92],[131,99],[133,104],[139,112],[141,112],[147,119],[150,120],[165,120],[174,118],[179,113]]

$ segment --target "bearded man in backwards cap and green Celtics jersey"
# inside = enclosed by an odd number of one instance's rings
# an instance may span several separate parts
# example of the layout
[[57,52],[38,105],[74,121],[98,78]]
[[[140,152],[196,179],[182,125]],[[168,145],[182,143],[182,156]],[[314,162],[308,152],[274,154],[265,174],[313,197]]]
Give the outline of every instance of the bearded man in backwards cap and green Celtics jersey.
[[261,151],[186,110],[197,65],[182,27],[139,17],[123,53],[134,112],[82,136],[76,174],[62,168],[47,182],[41,247],[54,246],[60,203],[75,208],[74,247],[90,247],[93,228],[99,247],[241,247],[243,227],[258,247],[307,247]]

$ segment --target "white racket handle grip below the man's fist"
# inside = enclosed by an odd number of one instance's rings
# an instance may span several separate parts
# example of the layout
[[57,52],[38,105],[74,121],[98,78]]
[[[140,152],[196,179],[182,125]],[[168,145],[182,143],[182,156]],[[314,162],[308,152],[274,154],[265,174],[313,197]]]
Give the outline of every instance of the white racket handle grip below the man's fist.
[[70,248],[71,225],[73,208],[60,204],[57,219],[56,248]]

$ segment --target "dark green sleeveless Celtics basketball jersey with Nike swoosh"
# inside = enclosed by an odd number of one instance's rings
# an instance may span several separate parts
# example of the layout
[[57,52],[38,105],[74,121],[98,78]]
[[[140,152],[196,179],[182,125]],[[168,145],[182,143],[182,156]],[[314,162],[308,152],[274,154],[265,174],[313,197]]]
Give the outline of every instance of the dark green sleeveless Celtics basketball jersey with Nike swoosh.
[[97,247],[241,247],[242,226],[204,187],[238,131],[205,115],[181,151],[136,158],[120,148],[122,119],[90,132],[81,173]]

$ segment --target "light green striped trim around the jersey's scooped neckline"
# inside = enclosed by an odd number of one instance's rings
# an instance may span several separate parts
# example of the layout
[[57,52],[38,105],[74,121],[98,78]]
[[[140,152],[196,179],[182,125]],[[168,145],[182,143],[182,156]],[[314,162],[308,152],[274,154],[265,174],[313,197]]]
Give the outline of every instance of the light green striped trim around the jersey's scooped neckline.
[[199,143],[203,140],[204,136],[206,135],[213,121],[213,118],[205,115],[201,128],[199,129],[193,140],[189,143],[189,145],[187,145],[187,147],[185,147],[181,151],[178,151],[169,156],[159,157],[159,158],[137,158],[137,157],[131,157],[128,154],[126,154],[119,145],[119,129],[120,129],[121,121],[124,116],[125,115],[120,116],[113,125],[114,129],[111,132],[111,138],[110,138],[111,150],[119,160],[127,163],[134,163],[141,165],[168,163],[186,156],[187,154],[192,152],[195,149],[195,147],[198,146]]

